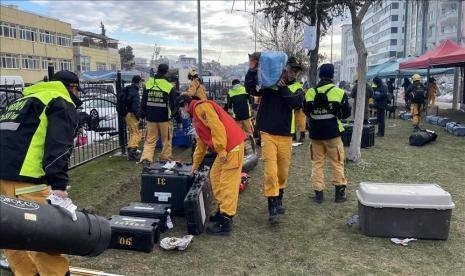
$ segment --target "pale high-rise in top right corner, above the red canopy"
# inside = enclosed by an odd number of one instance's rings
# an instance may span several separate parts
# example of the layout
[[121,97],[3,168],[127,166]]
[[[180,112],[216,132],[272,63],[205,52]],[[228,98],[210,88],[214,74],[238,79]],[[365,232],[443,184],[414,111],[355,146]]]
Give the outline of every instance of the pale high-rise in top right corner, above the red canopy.
[[[464,7],[460,0],[406,3],[405,56],[419,56],[445,39],[465,40]],[[426,15],[426,16],[425,16]],[[462,30],[460,30],[460,25]]]

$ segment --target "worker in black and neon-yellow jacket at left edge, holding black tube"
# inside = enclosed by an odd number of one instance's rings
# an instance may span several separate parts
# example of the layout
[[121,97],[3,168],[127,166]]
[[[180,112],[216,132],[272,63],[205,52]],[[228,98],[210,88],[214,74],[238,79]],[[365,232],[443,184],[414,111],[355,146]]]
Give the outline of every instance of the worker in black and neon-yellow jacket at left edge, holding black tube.
[[[68,162],[78,129],[79,78],[57,72],[50,82],[24,89],[24,97],[0,114],[0,194],[47,204],[67,198]],[[59,234],[59,233],[55,233]],[[5,250],[15,275],[69,275],[65,256]]]

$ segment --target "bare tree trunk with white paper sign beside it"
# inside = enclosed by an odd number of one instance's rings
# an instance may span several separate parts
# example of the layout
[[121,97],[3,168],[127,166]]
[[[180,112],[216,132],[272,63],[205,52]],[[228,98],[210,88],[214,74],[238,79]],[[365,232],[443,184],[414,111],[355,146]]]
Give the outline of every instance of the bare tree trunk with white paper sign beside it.
[[355,122],[352,133],[352,141],[349,147],[349,153],[347,158],[354,162],[359,162],[362,159],[362,153],[360,151],[360,143],[362,139],[363,131],[363,117],[365,112],[365,95],[366,95],[366,73],[367,73],[367,50],[365,48],[365,43],[362,37],[361,23],[363,16],[361,18],[354,18],[352,14],[352,33],[354,37],[355,49],[357,50],[358,56],[358,85],[357,85],[357,102],[356,102],[356,111],[355,111]]

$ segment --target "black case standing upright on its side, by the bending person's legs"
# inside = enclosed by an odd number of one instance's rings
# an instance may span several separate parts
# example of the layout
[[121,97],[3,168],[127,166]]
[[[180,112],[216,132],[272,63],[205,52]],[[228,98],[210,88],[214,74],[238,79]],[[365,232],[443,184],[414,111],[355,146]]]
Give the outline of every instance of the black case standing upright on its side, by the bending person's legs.
[[199,235],[204,231],[209,216],[211,197],[208,169],[205,169],[199,172],[184,199],[189,234]]

